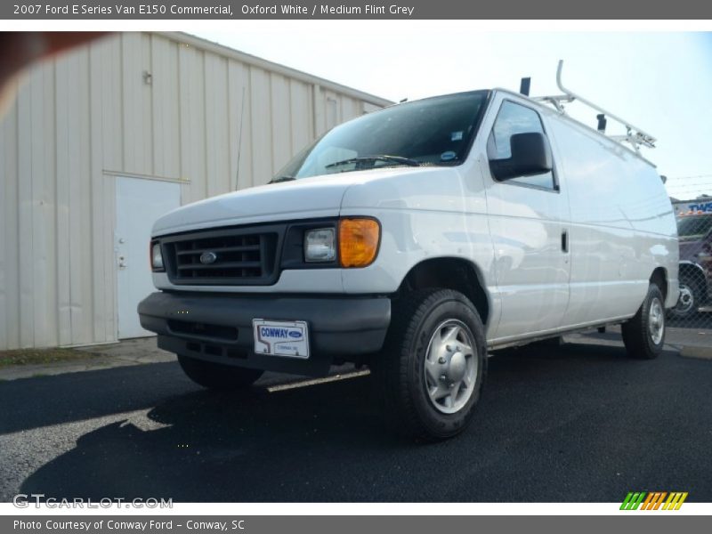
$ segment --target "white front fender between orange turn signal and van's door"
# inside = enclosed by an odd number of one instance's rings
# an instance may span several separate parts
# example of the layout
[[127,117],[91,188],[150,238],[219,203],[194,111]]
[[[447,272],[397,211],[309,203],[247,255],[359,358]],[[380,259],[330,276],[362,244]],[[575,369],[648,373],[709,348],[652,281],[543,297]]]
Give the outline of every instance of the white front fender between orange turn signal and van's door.
[[475,160],[457,168],[422,167],[388,180],[356,182],[345,191],[340,214],[376,217],[382,229],[376,261],[362,269],[342,270],[344,293],[390,294],[418,263],[464,259],[479,273],[490,300],[488,333],[496,327],[500,299]]

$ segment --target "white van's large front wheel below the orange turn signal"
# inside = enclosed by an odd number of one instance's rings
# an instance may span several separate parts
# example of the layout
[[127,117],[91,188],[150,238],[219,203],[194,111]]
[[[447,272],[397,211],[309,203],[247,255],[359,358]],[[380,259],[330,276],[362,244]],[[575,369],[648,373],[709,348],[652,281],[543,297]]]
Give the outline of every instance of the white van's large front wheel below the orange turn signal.
[[393,302],[373,370],[397,430],[434,441],[465,430],[486,366],[484,328],[473,304],[457,291],[426,289]]

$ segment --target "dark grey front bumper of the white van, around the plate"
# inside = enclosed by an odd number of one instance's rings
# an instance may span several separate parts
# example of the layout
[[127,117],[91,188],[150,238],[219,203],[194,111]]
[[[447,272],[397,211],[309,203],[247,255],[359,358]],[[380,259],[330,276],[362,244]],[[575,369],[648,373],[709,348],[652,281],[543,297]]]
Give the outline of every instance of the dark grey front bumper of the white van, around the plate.
[[[138,307],[143,328],[169,352],[244,368],[320,376],[334,360],[378,352],[391,322],[391,301],[361,296],[260,296],[153,293]],[[304,320],[307,360],[254,351],[253,319]]]

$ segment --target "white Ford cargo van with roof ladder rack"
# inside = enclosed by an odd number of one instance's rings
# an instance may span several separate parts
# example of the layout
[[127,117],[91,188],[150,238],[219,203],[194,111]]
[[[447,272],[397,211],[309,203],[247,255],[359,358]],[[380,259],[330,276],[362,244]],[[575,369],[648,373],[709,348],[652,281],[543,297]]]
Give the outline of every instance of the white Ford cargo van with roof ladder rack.
[[627,352],[655,358],[678,295],[672,206],[650,163],[557,98],[394,105],[270,184],[166,214],[143,328],[211,388],[368,365],[392,421],[429,439],[463,430],[488,351],[622,324]]

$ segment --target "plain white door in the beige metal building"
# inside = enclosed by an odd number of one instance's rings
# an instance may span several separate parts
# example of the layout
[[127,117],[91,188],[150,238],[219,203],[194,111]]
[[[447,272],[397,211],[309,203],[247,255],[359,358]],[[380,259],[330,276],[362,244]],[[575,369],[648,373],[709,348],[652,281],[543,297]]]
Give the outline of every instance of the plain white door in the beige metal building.
[[155,291],[150,274],[150,231],[158,217],[181,206],[181,186],[117,177],[118,338],[153,336],[141,328],[138,303]]

